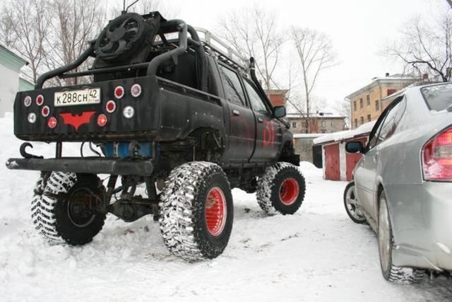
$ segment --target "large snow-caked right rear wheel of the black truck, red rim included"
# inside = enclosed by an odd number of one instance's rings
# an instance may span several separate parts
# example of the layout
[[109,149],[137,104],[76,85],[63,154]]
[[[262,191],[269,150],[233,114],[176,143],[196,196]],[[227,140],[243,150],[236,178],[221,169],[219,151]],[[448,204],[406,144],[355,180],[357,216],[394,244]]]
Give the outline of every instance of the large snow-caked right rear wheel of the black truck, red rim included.
[[[222,197],[211,199],[213,192]],[[194,262],[213,259],[225,250],[234,209],[230,184],[219,165],[205,161],[179,165],[165,180],[160,200],[160,231],[172,255]],[[223,215],[215,228],[208,226],[207,217],[218,204]]]

